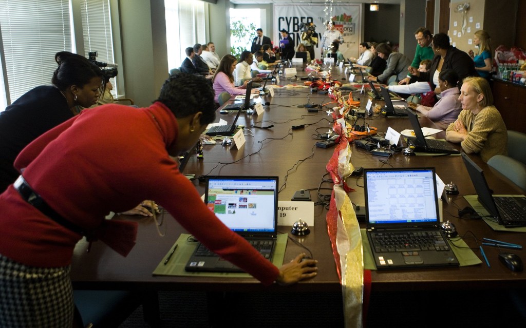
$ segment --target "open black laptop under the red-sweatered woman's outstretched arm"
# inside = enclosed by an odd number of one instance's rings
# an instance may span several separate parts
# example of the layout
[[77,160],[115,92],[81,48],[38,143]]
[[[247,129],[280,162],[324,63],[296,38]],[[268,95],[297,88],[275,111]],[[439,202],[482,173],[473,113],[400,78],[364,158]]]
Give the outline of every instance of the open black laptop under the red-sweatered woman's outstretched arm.
[[[221,222],[271,260],[278,231],[278,189],[278,177],[210,177],[205,203]],[[198,245],[186,271],[242,272],[203,248]]]

